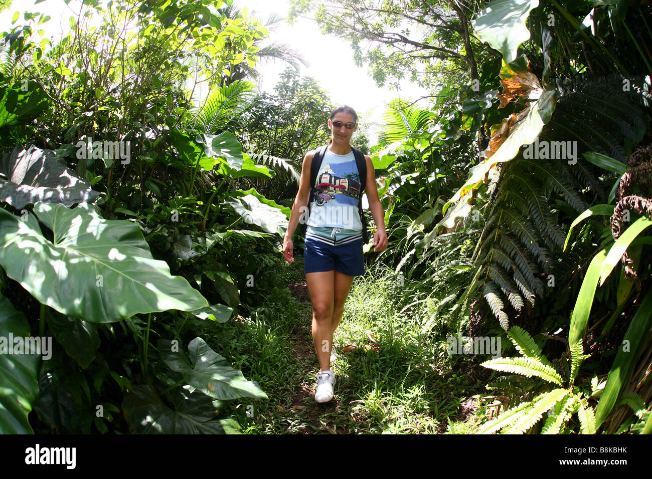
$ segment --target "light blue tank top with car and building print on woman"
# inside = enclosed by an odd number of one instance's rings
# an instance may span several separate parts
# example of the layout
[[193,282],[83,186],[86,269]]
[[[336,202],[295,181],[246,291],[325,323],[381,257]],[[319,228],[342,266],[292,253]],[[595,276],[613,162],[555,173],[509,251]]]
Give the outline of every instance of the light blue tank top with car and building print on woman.
[[353,151],[335,154],[326,149],[315,182],[314,200],[308,218],[313,229],[338,228],[344,231],[362,231],[358,212],[360,175]]

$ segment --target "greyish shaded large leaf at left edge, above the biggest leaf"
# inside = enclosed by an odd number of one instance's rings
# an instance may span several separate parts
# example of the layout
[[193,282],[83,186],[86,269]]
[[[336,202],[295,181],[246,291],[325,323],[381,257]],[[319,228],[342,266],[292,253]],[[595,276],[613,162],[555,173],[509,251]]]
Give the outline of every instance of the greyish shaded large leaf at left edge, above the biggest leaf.
[[20,210],[25,205],[45,201],[66,206],[93,202],[98,192],[91,184],[67,169],[53,151],[20,146],[3,153],[0,162],[0,201]]

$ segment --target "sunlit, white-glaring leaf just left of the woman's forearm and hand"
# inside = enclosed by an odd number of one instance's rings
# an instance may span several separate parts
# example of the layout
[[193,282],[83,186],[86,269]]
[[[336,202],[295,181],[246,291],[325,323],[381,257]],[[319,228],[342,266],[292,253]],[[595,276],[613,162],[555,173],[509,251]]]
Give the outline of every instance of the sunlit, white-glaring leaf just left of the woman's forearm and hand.
[[268,233],[278,233],[283,237],[288,229],[291,210],[265,198],[254,188],[231,192],[225,203],[231,205],[244,222],[258,225]]

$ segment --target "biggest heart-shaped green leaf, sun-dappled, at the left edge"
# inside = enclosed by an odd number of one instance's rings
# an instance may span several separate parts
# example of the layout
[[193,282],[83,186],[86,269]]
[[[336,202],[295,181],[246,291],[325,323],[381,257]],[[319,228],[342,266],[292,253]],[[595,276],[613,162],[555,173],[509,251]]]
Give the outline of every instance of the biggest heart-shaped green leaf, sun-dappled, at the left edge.
[[93,323],[208,306],[152,257],[138,225],[104,220],[87,203],[75,209],[37,203],[34,212],[23,221],[0,210],[0,265],[39,302]]

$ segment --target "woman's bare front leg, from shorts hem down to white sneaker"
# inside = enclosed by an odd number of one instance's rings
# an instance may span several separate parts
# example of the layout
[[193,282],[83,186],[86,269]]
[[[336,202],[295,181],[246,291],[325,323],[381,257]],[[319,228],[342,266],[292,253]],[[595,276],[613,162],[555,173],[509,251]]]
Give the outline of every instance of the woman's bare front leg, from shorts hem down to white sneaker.
[[308,295],[312,302],[312,339],[321,371],[331,369],[335,273],[335,270],[306,273]]

